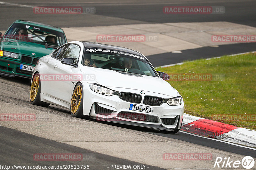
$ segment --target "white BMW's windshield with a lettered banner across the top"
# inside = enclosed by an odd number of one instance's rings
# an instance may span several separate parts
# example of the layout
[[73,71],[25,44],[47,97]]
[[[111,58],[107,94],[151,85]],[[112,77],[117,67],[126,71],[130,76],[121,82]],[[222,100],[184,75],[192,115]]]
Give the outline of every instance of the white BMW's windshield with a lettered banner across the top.
[[124,73],[156,76],[155,71],[143,56],[115,50],[86,48],[82,64]]

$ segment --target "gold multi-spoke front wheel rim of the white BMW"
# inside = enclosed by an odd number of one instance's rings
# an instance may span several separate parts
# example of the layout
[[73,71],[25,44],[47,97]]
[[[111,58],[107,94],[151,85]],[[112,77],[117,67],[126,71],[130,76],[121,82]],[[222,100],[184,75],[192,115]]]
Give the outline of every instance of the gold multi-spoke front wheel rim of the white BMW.
[[71,99],[71,113],[75,114],[78,110],[82,99],[82,87],[77,86],[73,92],[72,99]]

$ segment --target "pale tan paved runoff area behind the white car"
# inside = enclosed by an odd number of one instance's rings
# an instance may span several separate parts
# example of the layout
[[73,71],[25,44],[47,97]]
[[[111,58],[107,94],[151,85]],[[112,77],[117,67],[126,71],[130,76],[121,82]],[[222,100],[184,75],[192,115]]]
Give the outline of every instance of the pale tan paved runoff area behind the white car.
[[[68,41],[93,41],[123,46],[145,56],[179,53],[181,50],[241,42],[213,42],[212,35],[256,35],[256,28],[230,22],[191,22],[162,24],[133,24],[63,28]],[[111,35],[111,36],[108,36]],[[116,35],[116,36],[115,36]],[[137,35],[133,42],[125,42],[118,35]],[[145,40],[145,41],[144,41]],[[250,39],[253,40],[253,39]],[[119,41],[119,42],[111,42]],[[254,42],[255,39],[254,39]]]

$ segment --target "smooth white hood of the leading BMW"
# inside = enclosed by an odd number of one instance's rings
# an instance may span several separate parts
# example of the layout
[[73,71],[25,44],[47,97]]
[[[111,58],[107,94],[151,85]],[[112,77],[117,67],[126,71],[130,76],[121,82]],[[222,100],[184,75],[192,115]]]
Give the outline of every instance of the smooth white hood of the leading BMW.
[[[89,71],[90,70],[90,71]],[[159,77],[152,77],[143,75],[134,76],[122,74],[117,71],[100,69],[100,68],[81,68],[81,71],[92,74],[92,77],[98,84],[108,87],[118,87],[125,89],[136,89],[141,91],[149,91],[159,94],[164,94],[172,97],[178,96],[175,90],[168,82]]]

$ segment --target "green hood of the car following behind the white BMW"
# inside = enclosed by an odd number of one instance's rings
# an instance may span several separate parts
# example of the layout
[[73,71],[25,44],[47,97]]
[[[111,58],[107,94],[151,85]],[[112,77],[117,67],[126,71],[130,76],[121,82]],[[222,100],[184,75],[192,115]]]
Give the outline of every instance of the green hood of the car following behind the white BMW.
[[[35,56],[40,58],[54,51],[54,49],[52,48],[46,49],[42,44],[26,42],[26,41],[18,41],[15,39],[8,39],[8,40],[4,39],[3,47],[4,47],[3,48],[4,51],[19,53],[22,55]],[[35,55],[32,55],[32,53],[35,53]]]

